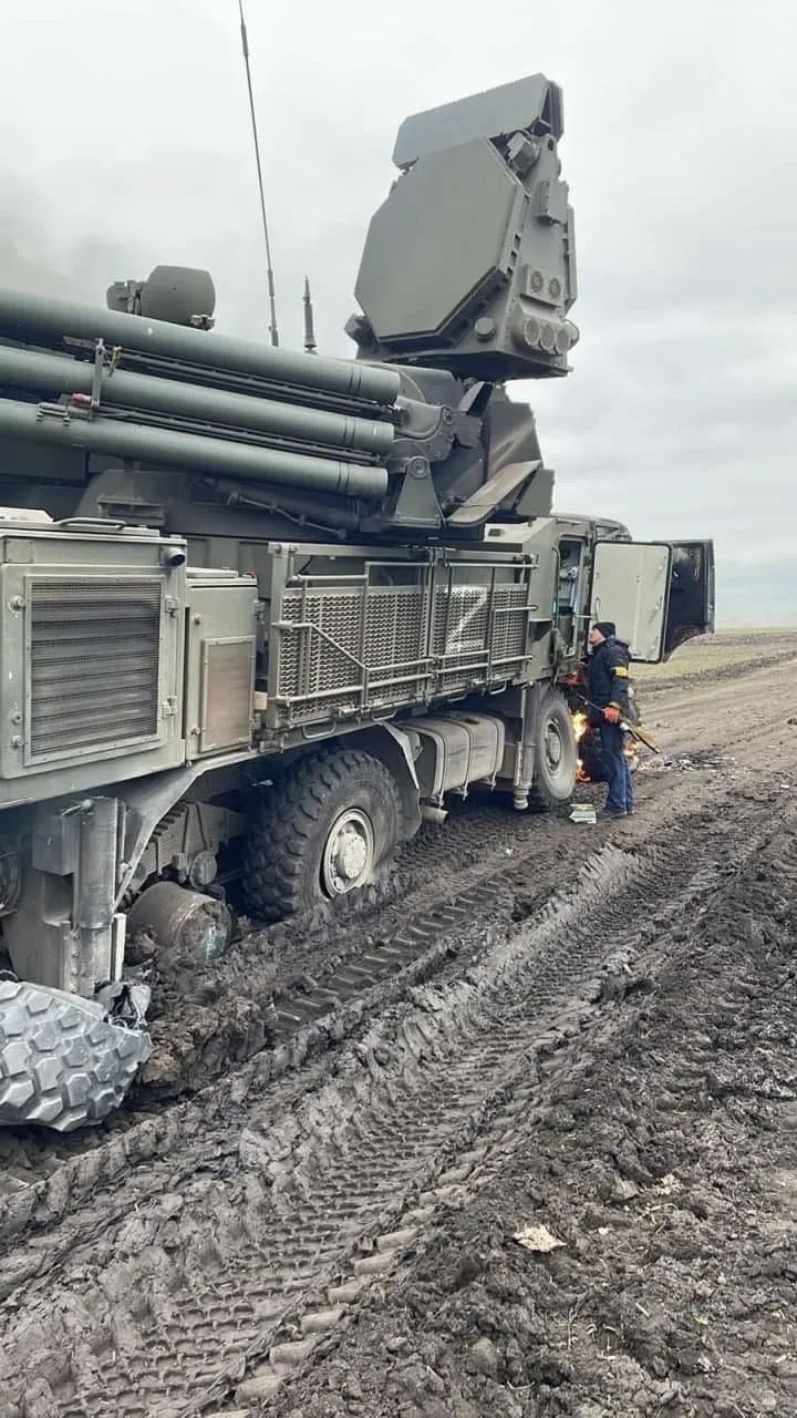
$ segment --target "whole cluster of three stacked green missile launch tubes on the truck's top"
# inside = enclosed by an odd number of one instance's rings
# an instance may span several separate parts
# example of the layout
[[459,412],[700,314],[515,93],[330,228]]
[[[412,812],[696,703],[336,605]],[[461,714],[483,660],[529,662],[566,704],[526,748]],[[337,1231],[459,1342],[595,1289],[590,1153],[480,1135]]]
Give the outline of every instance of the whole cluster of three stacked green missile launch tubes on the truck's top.
[[0,342],[0,437],[340,496],[387,491],[396,370],[7,289]]

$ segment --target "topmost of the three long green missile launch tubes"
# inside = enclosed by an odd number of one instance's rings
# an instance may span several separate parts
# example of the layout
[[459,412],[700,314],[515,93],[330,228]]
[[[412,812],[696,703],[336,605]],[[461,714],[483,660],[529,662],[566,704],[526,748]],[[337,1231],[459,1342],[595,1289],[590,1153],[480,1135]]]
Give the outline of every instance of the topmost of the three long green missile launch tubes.
[[298,384],[353,398],[391,404],[398,393],[396,370],[301,354],[238,340],[231,335],[210,335],[142,315],[102,311],[77,301],[24,295],[0,286],[0,329],[27,343],[60,343],[64,337],[121,345],[162,359],[184,360],[208,369],[260,376],[278,384]]

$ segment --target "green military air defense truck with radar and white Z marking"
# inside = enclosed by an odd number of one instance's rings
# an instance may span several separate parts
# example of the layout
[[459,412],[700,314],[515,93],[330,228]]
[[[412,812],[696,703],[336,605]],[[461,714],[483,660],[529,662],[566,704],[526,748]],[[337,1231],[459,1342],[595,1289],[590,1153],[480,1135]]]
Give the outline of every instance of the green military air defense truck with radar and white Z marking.
[[221,876],[274,920],[450,794],[566,804],[590,615],[710,628],[710,543],[554,513],[506,393],[577,340],[560,138],[542,75],[401,126],[353,360],[214,330],[206,272],[0,289],[0,1120],[121,1102],[126,937],[224,950]]

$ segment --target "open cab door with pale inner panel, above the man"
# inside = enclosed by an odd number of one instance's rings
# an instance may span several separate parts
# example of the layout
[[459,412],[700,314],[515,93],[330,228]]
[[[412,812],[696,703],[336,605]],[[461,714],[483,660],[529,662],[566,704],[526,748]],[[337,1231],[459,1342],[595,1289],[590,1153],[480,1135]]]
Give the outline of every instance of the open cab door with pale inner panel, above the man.
[[713,631],[713,542],[597,542],[590,615],[617,625],[631,659],[658,664]]

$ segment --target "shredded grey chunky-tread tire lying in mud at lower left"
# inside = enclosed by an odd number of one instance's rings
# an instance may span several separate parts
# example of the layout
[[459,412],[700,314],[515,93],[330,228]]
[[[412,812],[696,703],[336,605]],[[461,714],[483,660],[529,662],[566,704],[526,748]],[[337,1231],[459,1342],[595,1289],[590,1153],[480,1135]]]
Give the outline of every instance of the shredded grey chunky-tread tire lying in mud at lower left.
[[149,1034],[105,1004],[0,977],[0,1126],[99,1123],[150,1054]]

